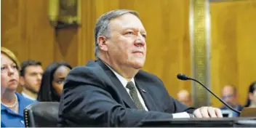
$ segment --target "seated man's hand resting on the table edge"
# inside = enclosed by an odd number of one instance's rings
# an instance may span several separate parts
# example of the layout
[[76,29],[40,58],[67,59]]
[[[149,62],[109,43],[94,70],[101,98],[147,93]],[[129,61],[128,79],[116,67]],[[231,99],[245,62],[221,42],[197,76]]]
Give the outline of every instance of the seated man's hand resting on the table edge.
[[220,108],[212,108],[212,107],[201,107],[196,109],[193,112],[193,115],[196,118],[222,118],[223,113],[221,113]]

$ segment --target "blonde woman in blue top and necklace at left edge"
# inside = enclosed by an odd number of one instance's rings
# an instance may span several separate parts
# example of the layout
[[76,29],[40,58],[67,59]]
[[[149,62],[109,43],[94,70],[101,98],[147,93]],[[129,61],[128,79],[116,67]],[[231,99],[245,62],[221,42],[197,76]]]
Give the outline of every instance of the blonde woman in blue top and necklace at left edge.
[[9,49],[1,47],[1,127],[25,127],[23,110],[36,103],[16,92],[19,69],[17,57]]

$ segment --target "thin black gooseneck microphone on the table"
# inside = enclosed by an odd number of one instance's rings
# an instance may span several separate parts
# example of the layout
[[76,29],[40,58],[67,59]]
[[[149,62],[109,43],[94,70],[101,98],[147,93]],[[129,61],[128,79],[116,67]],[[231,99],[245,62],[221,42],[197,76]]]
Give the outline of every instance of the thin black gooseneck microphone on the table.
[[197,83],[201,84],[201,86],[203,86],[205,89],[207,89],[210,93],[212,93],[212,95],[214,95],[215,97],[217,97],[217,100],[220,100],[221,103],[223,103],[225,106],[227,106],[228,108],[230,108],[232,111],[235,111],[236,113],[241,113],[241,111],[237,111],[236,109],[232,108],[230,105],[228,105],[227,103],[225,103],[225,101],[221,100],[220,97],[218,97],[217,95],[215,95],[215,93],[213,93],[210,89],[208,89],[206,86],[204,86],[204,84],[202,84],[200,81],[196,80],[196,79],[192,79],[189,76],[186,76],[183,73],[178,73],[177,74],[177,79],[186,81],[186,80],[192,80],[192,81],[196,81]]

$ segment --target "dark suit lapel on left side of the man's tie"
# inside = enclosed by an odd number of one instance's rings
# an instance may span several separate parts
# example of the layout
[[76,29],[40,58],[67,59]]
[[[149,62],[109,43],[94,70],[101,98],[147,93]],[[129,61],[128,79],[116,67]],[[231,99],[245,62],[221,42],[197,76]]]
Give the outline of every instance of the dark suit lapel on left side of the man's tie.
[[102,60],[97,60],[96,62],[103,68],[105,73],[109,76],[114,87],[116,87],[119,90],[119,95],[124,100],[124,103],[126,103],[126,105],[129,106],[129,108],[137,108],[135,106],[135,103],[133,103],[132,98],[129,96],[127,90],[121,84],[121,81],[119,81],[119,79],[116,77],[113,71],[111,71],[111,69],[108,68],[108,66],[105,65],[105,63],[103,63]]

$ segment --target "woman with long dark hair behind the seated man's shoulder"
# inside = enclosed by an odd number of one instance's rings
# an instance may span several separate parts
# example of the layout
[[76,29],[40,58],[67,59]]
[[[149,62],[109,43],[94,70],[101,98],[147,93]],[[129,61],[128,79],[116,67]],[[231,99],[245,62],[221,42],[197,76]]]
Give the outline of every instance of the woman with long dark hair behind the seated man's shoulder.
[[71,65],[65,62],[48,65],[41,79],[41,87],[37,100],[59,102],[65,77],[71,69]]

